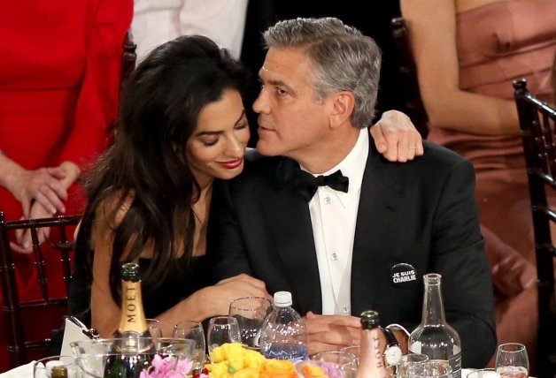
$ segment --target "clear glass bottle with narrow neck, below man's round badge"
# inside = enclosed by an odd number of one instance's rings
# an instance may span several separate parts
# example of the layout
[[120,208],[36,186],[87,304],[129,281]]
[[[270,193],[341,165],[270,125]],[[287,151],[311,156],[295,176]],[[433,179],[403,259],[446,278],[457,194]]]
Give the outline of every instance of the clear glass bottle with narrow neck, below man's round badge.
[[444,305],[440,291],[441,275],[429,273],[423,276],[421,324],[409,336],[409,352],[421,353],[429,359],[445,361],[452,367],[452,378],[461,378],[461,341],[458,332],[444,317]]

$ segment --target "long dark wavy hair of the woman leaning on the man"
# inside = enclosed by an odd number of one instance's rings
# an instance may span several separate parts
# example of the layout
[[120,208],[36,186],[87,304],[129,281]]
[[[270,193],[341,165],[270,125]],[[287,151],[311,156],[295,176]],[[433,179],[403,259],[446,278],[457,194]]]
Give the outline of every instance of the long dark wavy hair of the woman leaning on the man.
[[[112,230],[110,286],[116,303],[122,262],[138,259],[147,243],[154,253],[142,272],[145,287],[161,282],[178,255],[191,256],[192,205],[200,187],[186,160],[186,144],[205,105],[219,101],[227,89],[243,94],[248,82],[249,72],[242,64],[198,35],[181,36],[154,49],[127,80],[113,144],[84,177],[88,203],[76,241],[78,253],[89,255],[97,209],[108,206],[107,218],[98,221],[113,224],[124,201],[134,198]],[[89,283],[90,264],[89,259]]]

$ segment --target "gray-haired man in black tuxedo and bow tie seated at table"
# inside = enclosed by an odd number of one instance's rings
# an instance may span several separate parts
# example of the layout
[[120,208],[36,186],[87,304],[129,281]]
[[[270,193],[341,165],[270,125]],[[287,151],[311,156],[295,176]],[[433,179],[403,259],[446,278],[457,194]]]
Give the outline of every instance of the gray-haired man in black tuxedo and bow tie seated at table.
[[[213,197],[216,278],[246,273],[291,291],[310,352],[358,342],[359,315],[407,334],[421,321],[422,276],[442,275],[463,367],[496,346],[492,284],[470,162],[425,142],[409,163],[369,140],[381,53],[339,19],[280,21],[264,34],[257,150]],[[413,158],[418,146],[409,142]],[[382,341],[384,343],[384,341]]]

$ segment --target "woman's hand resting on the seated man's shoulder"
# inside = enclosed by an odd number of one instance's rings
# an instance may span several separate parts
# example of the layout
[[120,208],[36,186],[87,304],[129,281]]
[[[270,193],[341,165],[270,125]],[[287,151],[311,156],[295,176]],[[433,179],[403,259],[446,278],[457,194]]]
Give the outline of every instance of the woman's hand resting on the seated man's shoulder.
[[370,132],[376,149],[390,162],[405,163],[424,154],[421,134],[401,111],[383,112]]

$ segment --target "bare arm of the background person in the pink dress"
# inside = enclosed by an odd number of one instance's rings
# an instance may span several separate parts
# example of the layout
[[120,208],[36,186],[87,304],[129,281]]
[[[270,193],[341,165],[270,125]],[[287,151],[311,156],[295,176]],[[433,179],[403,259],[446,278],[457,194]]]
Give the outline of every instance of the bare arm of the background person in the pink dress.
[[518,134],[513,101],[459,89],[455,0],[401,0],[400,4],[430,123],[483,135]]

